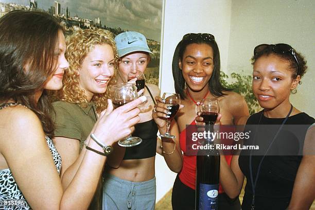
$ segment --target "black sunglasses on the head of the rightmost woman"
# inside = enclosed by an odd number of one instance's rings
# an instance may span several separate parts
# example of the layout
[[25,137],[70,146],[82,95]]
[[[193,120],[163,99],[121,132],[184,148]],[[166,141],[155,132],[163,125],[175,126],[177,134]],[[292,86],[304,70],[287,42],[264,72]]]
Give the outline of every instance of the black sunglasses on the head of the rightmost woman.
[[256,46],[254,48],[254,57],[256,57],[258,53],[260,53],[261,51],[263,51],[267,47],[271,47],[272,51],[274,51],[274,53],[277,53],[277,54],[284,54],[284,53],[291,54],[294,57],[296,63],[298,64],[298,73],[296,75],[300,75],[300,64],[299,64],[298,58],[296,58],[295,50],[293,49],[293,47],[291,47],[288,44],[283,44],[283,43],[281,43],[281,44],[259,44],[258,46]]

